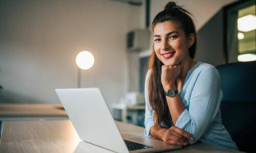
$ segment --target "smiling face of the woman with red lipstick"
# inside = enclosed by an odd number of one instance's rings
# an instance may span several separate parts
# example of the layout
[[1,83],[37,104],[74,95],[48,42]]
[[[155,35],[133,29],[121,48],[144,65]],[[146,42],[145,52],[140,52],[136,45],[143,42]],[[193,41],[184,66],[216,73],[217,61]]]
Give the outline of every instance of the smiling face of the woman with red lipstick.
[[154,50],[164,65],[177,65],[190,58],[187,37],[177,23],[157,23],[153,31]]

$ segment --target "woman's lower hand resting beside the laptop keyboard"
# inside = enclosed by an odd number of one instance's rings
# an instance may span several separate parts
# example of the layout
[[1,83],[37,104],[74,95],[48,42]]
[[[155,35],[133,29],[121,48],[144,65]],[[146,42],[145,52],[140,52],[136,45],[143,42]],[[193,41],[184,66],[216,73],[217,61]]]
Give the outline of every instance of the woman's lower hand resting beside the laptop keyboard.
[[188,140],[194,140],[189,133],[177,126],[172,126],[166,130],[161,139],[162,141],[173,145],[187,145]]

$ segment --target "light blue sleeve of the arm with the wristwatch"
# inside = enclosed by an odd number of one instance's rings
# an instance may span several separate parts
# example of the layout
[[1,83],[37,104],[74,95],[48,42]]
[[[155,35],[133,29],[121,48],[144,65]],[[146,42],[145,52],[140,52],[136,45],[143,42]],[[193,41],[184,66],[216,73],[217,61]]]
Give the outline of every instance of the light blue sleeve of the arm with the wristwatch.
[[197,142],[215,118],[220,108],[222,91],[220,74],[214,67],[202,71],[194,85],[189,100],[189,110],[185,109],[176,121],[176,126],[187,131]]

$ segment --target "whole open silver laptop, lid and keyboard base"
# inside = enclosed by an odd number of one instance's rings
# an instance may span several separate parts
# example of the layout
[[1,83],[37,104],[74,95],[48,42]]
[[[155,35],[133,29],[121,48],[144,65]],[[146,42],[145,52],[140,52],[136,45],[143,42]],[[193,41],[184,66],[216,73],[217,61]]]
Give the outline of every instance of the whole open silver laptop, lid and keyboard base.
[[181,148],[150,137],[121,135],[98,88],[55,91],[83,141],[115,152],[158,152]]

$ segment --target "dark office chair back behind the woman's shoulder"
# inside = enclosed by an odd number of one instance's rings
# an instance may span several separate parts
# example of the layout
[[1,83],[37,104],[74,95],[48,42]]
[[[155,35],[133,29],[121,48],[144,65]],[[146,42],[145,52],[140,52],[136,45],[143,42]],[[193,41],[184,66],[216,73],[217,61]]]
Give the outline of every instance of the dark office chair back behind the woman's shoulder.
[[256,61],[216,67],[221,76],[222,121],[239,150],[255,151]]

